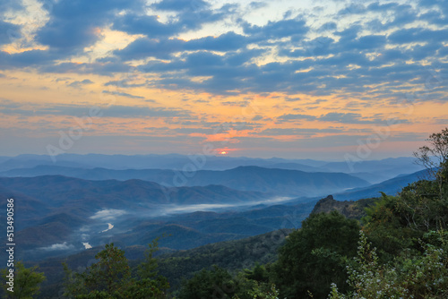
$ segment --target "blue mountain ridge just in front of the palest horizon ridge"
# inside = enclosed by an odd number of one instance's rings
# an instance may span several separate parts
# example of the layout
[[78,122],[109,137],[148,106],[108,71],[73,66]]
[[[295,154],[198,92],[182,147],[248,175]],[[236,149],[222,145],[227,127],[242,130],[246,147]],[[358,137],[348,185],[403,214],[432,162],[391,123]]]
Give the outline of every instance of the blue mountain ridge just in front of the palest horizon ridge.
[[167,169],[106,169],[38,166],[12,169],[0,176],[65,175],[86,180],[141,179],[166,186],[207,186],[220,184],[239,191],[270,192],[280,196],[321,196],[369,185],[365,180],[343,173],[306,173],[299,170],[236,167],[183,173]]

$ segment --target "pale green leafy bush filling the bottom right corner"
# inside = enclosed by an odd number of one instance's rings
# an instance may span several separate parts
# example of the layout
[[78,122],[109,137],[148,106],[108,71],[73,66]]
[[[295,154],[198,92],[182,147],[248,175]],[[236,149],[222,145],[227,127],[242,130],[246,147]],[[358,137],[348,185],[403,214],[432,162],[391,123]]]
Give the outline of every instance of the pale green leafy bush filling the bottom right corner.
[[448,262],[444,251],[425,244],[423,255],[403,252],[392,263],[380,264],[376,249],[361,231],[358,256],[349,265],[349,285],[354,291],[343,295],[332,284],[329,295],[340,298],[446,298]]

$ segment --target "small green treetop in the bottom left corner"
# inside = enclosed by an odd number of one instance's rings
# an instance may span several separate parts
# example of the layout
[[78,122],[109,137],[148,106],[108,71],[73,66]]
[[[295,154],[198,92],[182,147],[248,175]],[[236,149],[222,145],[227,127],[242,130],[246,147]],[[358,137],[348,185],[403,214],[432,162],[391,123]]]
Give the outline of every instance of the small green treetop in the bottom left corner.
[[[25,268],[22,261],[15,263],[13,292],[8,291],[8,287],[10,286],[4,283],[4,298],[31,299],[35,295],[38,295],[40,283],[42,283],[42,281],[46,278],[43,273],[37,272],[37,269],[37,266]],[[8,273],[8,269],[1,270],[1,275],[3,278],[6,278]]]

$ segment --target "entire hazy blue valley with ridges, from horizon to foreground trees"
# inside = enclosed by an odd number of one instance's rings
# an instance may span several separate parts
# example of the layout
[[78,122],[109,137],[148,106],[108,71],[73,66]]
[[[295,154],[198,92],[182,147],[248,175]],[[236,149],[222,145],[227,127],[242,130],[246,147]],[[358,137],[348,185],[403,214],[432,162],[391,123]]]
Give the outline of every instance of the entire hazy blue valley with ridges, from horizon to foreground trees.
[[[142,259],[146,245],[160,238],[161,273],[175,288],[212,261],[233,259],[230,264],[220,263],[226,269],[275,261],[274,252],[285,236],[300,228],[312,212],[338,209],[359,219],[380,192],[393,195],[425,175],[406,167],[407,158],[392,163],[361,162],[365,163],[362,173],[347,171],[335,162],[245,159],[244,166],[195,171],[180,184],[176,180],[179,174],[185,177],[182,169],[146,168],[151,166],[145,164],[147,157],[125,157],[123,161],[114,157],[111,167],[115,168],[104,167],[111,162],[106,155],[96,155],[92,164],[90,155],[68,157],[56,165],[34,156],[0,163],[0,197],[16,201],[17,257],[45,271],[49,278],[43,285],[45,295],[60,288],[61,261],[79,267],[92,261],[107,243],[125,249],[128,259],[136,262]],[[159,164],[154,165],[169,167],[170,158],[155,158]],[[188,159],[176,158],[177,166]],[[144,168],[122,169],[133,159]],[[241,158],[226,158],[228,163],[215,157],[210,160],[212,168],[242,162]],[[390,177],[391,164],[403,171],[417,171]],[[347,173],[340,172],[344,170]],[[385,180],[369,183],[379,177],[378,171],[384,171]],[[4,216],[0,219],[3,226]],[[263,239],[266,234],[280,234],[280,239]],[[266,240],[277,241],[268,245]],[[247,242],[255,242],[250,245],[255,247],[236,249],[248,246]],[[200,253],[215,250],[221,253],[211,261],[207,260],[209,253]],[[243,260],[231,258],[247,250]],[[195,255],[202,260],[194,260]],[[172,261],[177,261],[176,266]],[[181,277],[179,269],[185,269]]]

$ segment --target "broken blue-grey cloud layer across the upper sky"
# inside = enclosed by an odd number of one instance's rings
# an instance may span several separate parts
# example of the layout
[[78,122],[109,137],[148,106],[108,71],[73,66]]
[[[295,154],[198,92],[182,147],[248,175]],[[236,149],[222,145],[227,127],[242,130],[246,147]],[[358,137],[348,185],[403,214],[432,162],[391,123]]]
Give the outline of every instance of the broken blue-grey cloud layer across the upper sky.
[[[328,15],[317,26],[310,25],[311,15],[306,13],[296,17],[286,13],[283,19],[265,24],[245,21],[245,9],[263,5],[164,0],[150,4],[146,14],[148,6],[140,0],[60,1],[48,8],[49,20],[36,35],[35,41],[49,48],[0,52],[0,68],[32,67],[39,73],[111,77],[138,70],[151,75],[144,82],[123,83],[122,87],[220,95],[272,91],[344,94],[366,99],[366,94],[391,98],[397,90],[409,89],[409,84],[414,90],[424,89],[427,71],[422,65],[447,56],[448,30],[437,25],[446,14],[442,2],[354,4],[339,15]],[[157,16],[160,12],[163,18]],[[231,20],[236,28],[216,36],[180,38],[180,33],[223,20]],[[65,58],[73,54],[89,56],[85,48],[99,41],[108,26],[142,36],[91,63],[67,62]],[[409,43],[418,45],[409,47]],[[129,64],[133,60],[145,63]],[[106,86],[119,81],[113,78]]]

